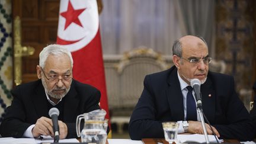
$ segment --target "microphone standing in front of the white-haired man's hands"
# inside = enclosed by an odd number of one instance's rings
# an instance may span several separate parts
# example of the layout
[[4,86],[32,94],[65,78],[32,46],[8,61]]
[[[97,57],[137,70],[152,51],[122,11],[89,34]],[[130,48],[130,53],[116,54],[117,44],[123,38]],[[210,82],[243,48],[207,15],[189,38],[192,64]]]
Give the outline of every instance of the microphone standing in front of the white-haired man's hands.
[[56,107],[51,108],[49,110],[49,116],[52,117],[53,122],[54,142],[59,142],[59,124],[57,122],[59,110]]

